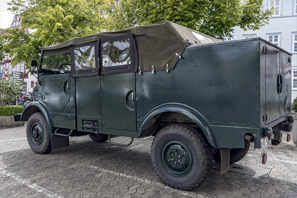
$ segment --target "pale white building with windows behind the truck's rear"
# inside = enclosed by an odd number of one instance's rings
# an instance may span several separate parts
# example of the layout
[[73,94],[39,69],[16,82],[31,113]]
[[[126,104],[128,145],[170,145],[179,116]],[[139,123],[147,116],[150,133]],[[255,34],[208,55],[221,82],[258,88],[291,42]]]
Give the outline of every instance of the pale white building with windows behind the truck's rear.
[[292,102],[297,97],[297,0],[263,0],[265,8],[274,7],[269,24],[256,31],[235,27],[232,38],[225,40],[262,37],[289,51],[292,56]]

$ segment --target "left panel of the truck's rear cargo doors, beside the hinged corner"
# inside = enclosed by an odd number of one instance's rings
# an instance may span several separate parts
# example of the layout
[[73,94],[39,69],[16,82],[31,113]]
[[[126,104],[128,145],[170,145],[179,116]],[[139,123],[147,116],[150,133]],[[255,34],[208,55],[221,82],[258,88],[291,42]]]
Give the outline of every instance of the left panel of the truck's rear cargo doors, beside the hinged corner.
[[[267,48],[267,49],[266,49]],[[280,116],[280,96],[278,94],[279,71],[280,71],[280,50],[268,44],[264,44],[266,71],[266,124],[277,120]],[[266,119],[266,118],[265,118]]]

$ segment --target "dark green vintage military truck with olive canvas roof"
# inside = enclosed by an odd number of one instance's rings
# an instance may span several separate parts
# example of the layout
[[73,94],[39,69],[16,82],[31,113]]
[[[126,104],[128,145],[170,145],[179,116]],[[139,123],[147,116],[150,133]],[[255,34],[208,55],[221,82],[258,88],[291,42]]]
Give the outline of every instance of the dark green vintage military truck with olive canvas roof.
[[268,141],[292,131],[292,54],[262,38],[221,42],[163,21],[40,50],[33,101],[15,116],[37,153],[69,146],[69,136],[129,146],[152,135],[157,175],[189,190],[213,160],[228,171],[250,142],[265,163]]

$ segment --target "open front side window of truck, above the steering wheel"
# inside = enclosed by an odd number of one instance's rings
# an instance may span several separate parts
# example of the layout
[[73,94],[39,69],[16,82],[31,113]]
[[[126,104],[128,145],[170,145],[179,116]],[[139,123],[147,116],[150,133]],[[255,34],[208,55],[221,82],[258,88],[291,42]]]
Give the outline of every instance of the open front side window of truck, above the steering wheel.
[[59,69],[60,64],[70,63],[70,53],[45,55],[42,60],[42,69]]

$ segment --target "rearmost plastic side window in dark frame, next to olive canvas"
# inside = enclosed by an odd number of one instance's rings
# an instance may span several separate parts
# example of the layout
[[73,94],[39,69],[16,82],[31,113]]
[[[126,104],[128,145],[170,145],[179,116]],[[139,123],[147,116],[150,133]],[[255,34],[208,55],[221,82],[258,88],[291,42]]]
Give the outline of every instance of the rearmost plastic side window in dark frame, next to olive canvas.
[[137,52],[132,35],[102,39],[99,48],[102,74],[137,71]]

